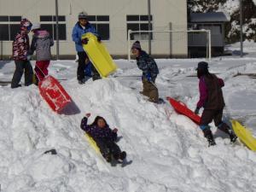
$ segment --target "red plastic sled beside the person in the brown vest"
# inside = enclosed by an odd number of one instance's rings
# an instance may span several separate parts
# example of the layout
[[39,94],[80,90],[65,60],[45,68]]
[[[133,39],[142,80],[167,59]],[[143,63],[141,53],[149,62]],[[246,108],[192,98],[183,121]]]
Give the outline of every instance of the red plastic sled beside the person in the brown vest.
[[167,96],[166,99],[170,102],[172,108],[174,108],[177,113],[181,113],[189,117],[189,119],[192,119],[197,125],[200,124],[201,117],[191,111],[183,102],[176,101],[169,96]]

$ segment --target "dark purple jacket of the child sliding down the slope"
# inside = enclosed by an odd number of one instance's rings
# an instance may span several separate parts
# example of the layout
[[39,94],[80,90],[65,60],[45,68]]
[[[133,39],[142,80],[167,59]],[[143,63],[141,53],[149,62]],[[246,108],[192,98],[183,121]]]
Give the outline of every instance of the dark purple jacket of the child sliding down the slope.
[[108,125],[104,128],[100,128],[97,125],[87,125],[87,118],[84,117],[81,121],[81,129],[90,135],[95,141],[107,140],[114,142],[117,139],[117,133],[113,132]]

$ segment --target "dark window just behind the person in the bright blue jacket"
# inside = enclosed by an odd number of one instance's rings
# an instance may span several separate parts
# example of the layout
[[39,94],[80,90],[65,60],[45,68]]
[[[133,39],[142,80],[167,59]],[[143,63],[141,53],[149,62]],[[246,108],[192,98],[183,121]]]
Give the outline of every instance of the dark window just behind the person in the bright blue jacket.
[[109,16],[108,15],[89,15],[88,20],[101,36],[102,40],[109,40]]

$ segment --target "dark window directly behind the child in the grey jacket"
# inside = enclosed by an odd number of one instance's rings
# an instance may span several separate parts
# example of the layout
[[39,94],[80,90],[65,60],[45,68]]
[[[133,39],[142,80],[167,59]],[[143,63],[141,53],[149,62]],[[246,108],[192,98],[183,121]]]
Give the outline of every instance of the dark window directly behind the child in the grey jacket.
[[[59,21],[59,39],[67,40],[66,17],[64,15],[58,16]],[[41,15],[41,28],[47,30],[51,37],[56,40],[56,17],[55,15]]]

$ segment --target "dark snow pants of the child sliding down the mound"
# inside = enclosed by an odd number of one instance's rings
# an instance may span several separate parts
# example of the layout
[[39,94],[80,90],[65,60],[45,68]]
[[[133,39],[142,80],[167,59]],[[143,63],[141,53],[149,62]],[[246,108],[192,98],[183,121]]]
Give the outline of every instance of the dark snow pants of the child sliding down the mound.
[[114,143],[113,141],[106,141],[106,140],[97,140],[96,144],[102,153],[102,156],[106,158],[108,154],[113,154],[115,159],[118,159],[121,150],[119,146]]

